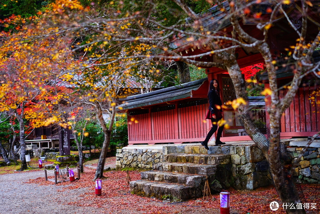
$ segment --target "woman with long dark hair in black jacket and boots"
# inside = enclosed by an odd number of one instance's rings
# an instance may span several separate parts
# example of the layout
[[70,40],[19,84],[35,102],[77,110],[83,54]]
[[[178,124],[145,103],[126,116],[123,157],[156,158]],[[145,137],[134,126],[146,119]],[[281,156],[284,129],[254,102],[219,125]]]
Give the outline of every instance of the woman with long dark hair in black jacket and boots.
[[[212,128],[208,132],[205,140],[201,143],[201,145],[204,146],[204,148],[206,148],[207,150],[209,150],[208,141],[213,135],[213,133],[217,131],[218,121],[223,117],[219,83],[216,79],[212,79],[210,81],[209,91],[208,91],[208,101],[209,101],[209,110],[212,114],[212,118],[211,118]],[[224,128],[224,125],[219,126],[219,129],[217,132],[217,138],[215,142],[216,146],[226,144],[220,141],[223,128]]]

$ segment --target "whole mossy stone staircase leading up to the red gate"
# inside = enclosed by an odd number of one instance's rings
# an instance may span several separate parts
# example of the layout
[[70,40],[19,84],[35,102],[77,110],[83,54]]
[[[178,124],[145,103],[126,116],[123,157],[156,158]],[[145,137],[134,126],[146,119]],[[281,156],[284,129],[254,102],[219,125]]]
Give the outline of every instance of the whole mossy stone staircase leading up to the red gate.
[[203,195],[206,179],[212,192],[230,187],[230,146],[167,146],[163,162],[130,182],[130,192],[147,197],[188,200]]

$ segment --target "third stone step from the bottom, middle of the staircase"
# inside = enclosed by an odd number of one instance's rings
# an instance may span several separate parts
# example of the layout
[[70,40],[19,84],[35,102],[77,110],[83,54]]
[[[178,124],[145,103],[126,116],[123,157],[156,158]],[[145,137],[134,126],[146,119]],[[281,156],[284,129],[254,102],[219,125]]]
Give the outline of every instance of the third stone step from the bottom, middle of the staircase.
[[216,172],[217,166],[202,165],[195,163],[162,162],[152,164],[152,169],[166,172],[211,176],[214,175],[214,173]]

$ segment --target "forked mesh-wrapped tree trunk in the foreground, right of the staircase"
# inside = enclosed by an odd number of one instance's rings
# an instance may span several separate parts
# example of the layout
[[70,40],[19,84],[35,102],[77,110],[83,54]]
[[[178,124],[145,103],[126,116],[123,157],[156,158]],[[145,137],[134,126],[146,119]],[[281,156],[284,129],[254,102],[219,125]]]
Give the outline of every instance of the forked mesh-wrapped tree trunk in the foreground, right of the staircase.
[[[232,58],[232,56],[230,58]],[[268,112],[270,116],[270,138],[268,140],[252,123],[250,111],[246,110],[249,108],[248,99],[245,93],[244,79],[236,61],[234,60],[231,63],[230,61],[228,62],[229,64],[226,63],[226,66],[235,88],[236,97],[243,98],[247,103],[246,105],[240,105],[238,109],[240,121],[244,124],[244,128],[249,136],[267,158],[276,191],[279,194],[281,201],[284,204],[289,205],[288,207],[284,207],[284,209],[286,208],[286,212],[305,213],[304,210],[290,209],[292,203],[297,205],[297,203],[300,203],[301,201],[290,172],[291,159],[289,159],[289,162],[285,162],[286,159],[282,158],[285,154],[282,154],[280,151],[280,124],[276,114]]]

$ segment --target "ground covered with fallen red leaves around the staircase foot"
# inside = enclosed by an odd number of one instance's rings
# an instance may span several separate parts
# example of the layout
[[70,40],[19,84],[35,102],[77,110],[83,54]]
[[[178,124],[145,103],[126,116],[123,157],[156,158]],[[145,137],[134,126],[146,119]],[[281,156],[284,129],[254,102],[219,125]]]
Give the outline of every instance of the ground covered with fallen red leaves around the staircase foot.
[[[106,162],[114,161],[107,158]],[[129,185],[126,183],[126,172],[111,170],[104,173],[102,181],[102,195],[94,194],[95,183],[92,181],[94,169],[84,167],[81,179],[75,182],[63,182],[57,184],[61,194],[68,194],[68,191],[76,188],[86,188],[87,192],[77,197],[75,201],[68,204],[76,206],[92,207],[93,210],[100,209],[101,213],[220,213],[219,194],[212,194],[208,200],[202,198],[189,200],[183,203],[165,203],[161,200],[151,199],[130,194]],[[131,180],[140,179],[139,171],[130,171]],[[53,178],[53,176],[49,177]],[[27,183],[41,185],[52,185],[52,182],[45,181],[44,178],[29,180]],[[307,213],[319,213],[319,192],[318,184],[302,184],[304,202],[317,203],[317,210],[306,210]],[[271,211],[270,202],[276,201],[282,205],[273,186],[258,188],[254,191],[237,191],[229,189],[230,213],[285,213],[280,207],[277,211]]]

